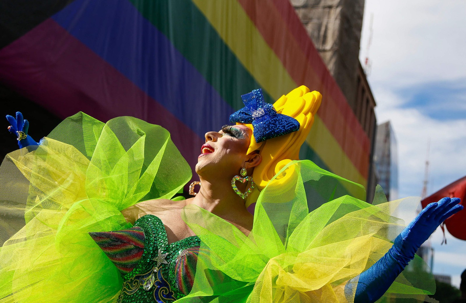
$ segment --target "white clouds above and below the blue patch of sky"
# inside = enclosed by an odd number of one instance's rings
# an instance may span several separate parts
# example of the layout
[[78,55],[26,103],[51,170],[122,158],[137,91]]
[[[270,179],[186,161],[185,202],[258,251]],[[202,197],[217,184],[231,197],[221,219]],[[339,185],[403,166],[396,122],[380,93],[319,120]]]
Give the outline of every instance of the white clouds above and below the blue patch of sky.
[[[464,87],[465,11],[463,0],[366,0],[361,57],[366,53],[368,20],[373,13],[369,81],[377,120],[391,120],[397,137],[400,197],[420,195],[429,139],[430,193],[466,174],[466,118],[440,121],[426,117],[421,108],[406,107],[409,100],[398,93],[430,82],[452,81]],[[456,103],[464,108],[462,98]]]

